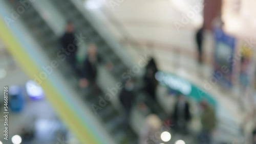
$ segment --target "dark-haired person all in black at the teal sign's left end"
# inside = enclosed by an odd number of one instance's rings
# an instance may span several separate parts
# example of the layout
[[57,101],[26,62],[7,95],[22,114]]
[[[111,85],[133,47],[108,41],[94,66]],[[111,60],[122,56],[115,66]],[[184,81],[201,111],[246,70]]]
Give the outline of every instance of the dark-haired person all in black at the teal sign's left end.
[[146,73],[144,76],[144,81],[145,81],[145,90],[152,99],[155,101],[156,100],[156,88],[158,85],[158,81],[155,78],[155,74],[157,73],[158,68],[156,65],[156,62],[154,58],[151,58],[151,60],[147,63],[146,65]]

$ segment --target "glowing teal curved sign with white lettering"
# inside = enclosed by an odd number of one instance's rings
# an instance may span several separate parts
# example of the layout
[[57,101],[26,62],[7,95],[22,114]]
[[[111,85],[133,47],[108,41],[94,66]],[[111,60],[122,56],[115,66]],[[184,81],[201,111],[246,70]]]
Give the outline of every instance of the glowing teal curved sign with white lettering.
[[211,105],[217,105],[216,100],[204,90],[179,76],[158,71],[155,77],[161,85],[177,90],[187,97],[191,97],[196,101],[207,100]]

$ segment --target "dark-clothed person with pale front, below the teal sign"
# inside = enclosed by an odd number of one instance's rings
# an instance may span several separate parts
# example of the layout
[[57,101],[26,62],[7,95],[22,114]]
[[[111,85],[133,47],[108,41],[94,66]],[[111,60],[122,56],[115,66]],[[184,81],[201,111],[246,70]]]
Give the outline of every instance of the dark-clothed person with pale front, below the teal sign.
[[187,124],[191,120],[189,108],[190,106],[185,96],[179,93],[172,116],[174,129],[176,129],[178,132],[187,133]]

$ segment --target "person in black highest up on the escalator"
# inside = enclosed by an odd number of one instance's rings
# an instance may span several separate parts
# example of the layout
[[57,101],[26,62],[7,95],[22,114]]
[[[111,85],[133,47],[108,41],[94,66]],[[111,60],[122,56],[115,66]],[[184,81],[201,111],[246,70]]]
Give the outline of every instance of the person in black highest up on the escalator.
[[[60,43],[63,48],[62,51],[64,50],[66,51],[65,54],[67,54],[68,63],[77,72],[78,68],[76,66],[76,53],[77,53],[78,47],[77,47],[77,44],[75,43],[74,27],[71,22],[68,22],[66,31],[60,39]],[[70,47],[72,46],[75,49],[72,51],[69,51],[68,50],[69,46]]]

